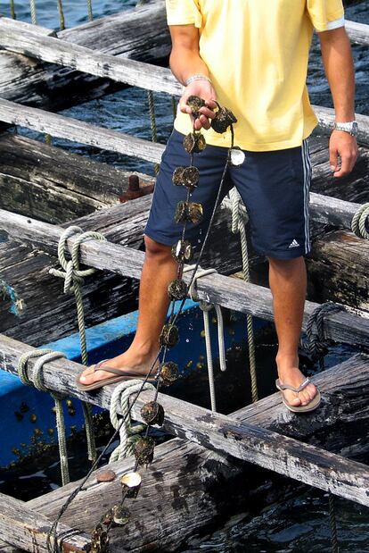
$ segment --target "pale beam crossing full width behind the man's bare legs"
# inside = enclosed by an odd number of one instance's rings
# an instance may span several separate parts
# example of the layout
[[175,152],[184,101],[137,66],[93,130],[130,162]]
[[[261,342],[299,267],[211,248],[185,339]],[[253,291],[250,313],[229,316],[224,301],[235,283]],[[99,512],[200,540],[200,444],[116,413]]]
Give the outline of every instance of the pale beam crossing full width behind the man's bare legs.
[[[29,217],[0,210],[0,230],[13,239],[32,244],[55,255],[63,229]],[[74,239],[68,240],[69,245]],[[81,262],[96,269],[117,272],[123,276],[140,279],[144,254],[129,247],[110,242],[91,240],[81,245]],[[187,281],[190,275],[184,277]],[[241,313],[252,314],[273,321],[272,295],[269,289],[245,283],[222,274],[212,274],[199,279],[199,297],[206,301],[229,307]],[[306,302],[303,328],[307,327],[309,315],[318,304]],[[350,344],[369,345],[369,320],[355,314],[340,312],[324,318],[325,335],[329,339]]]

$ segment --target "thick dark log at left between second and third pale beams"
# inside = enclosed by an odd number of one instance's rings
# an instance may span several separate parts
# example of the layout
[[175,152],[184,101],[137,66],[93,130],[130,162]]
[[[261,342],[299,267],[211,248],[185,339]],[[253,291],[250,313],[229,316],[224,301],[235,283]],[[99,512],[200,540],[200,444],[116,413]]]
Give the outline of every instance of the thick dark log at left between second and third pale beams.
[[[0,207],[40,221],[62,223],[119,203],[132,172],[60,147],[0,134]],[[135,173],[140,186],[153,178]]]

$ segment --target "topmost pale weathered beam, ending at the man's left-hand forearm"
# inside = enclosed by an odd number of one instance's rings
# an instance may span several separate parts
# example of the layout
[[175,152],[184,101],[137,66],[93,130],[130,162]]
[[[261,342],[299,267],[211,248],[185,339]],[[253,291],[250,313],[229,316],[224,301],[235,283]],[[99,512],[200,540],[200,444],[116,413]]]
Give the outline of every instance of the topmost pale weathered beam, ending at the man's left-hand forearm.
[[180,95],[182,90],[168,69],[103,54],[61,38],[35,33],[28,23],[6,17],[0,18],[0,46],[43,62],[57,63],[134,87],[176,95]]

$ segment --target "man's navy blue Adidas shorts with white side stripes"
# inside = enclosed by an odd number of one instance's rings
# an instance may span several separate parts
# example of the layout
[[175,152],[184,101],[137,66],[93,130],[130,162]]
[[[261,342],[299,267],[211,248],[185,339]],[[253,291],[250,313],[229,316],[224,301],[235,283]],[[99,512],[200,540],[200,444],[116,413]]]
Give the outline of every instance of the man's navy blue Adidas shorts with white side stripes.
[[[144,233],[167,246],[181,238],[183,225],[174,220],[176,204],[185,200],[187,189],[175,186],[176,167],[190,164],[183,147],[184,135],[173,130],[162,155],[152,208]],[[302,147],[272,152],[245,151],[240,166],[230,166],[222,198],[233,186],[239,191],[250,217],[250,236],[255,250],[275,259],[291,259],[310,250],[308,200],[311,164],[307,141]],[[201,244],[206,233],[217,190],[225,167],[227,148],[207,146],[194,155],[200,170],[200,183],[191,201],[201,203],[204,217],[200,225],[187,223],[185,238],[193,246]]]

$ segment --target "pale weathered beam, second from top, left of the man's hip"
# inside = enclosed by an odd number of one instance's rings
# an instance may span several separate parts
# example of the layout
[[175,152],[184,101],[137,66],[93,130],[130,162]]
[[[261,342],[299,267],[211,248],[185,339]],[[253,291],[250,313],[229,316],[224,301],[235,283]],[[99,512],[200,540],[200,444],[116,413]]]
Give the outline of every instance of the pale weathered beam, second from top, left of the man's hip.
[[28,129],[47,132],[53,137],[66,138],[82,144],[100,147],[111,152],[139,157],[160,163],[164,146],[143,138],[135,138],[117,130],[102,129],[91,123],[49,113],[36,107],[0,99],[0,121],[21,125]]

